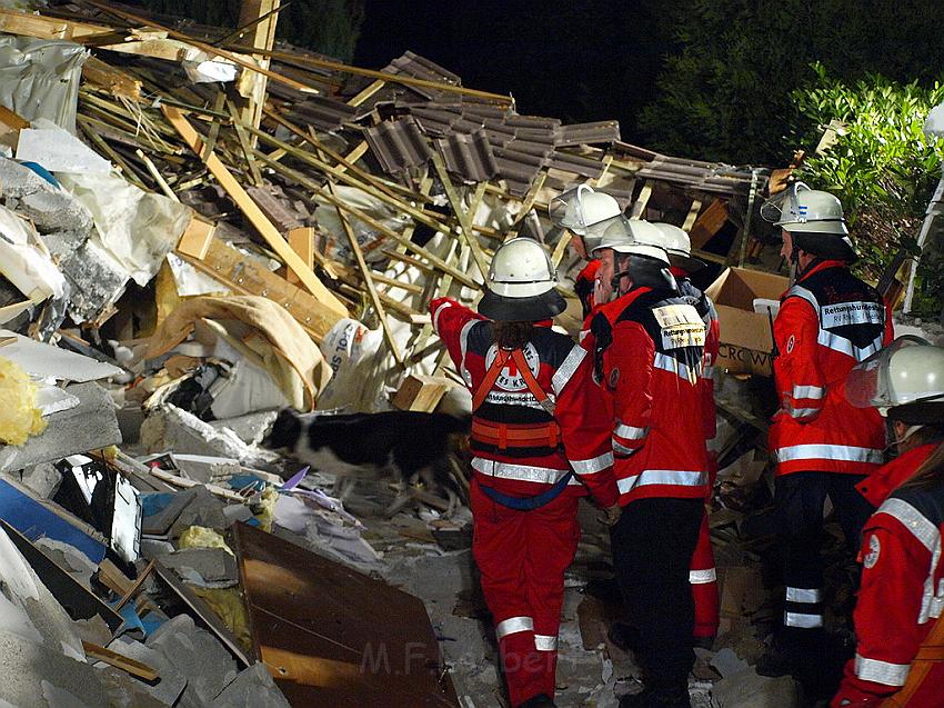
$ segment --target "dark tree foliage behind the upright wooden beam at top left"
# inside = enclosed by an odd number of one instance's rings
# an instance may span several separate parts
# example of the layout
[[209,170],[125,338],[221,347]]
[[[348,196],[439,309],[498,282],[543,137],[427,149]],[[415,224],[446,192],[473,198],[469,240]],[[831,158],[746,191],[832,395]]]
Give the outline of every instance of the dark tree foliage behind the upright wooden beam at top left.
[[[198,24],[235,29],[241,0],[142,0],[153,12],[187,18]],[[364,19],[364,0],[292,0],[279,12],[275,36],[350,62]]]

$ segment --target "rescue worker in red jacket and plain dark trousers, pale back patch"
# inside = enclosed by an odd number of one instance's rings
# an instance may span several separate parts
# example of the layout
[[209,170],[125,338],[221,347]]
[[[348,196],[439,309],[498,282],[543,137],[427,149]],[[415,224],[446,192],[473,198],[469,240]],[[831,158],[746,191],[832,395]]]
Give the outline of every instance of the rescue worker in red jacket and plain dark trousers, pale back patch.
[[655,238],[646,221],[620,217],[606,229],[594,252],[602,262],[599,301],[606,303],[583,338],[614,416],[623,515],[610,530],[613,566],[639,632],[633,651],[645,682],[621,708],[691,706],[689,567],[709,492],[699,383],[705,327],[680,297]]

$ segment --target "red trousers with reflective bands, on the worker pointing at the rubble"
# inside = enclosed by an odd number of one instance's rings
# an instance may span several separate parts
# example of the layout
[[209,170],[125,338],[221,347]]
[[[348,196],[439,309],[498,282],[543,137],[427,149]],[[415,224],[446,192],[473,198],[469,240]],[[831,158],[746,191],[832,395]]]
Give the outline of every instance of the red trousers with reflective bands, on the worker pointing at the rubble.
[[564,570],[580,538],[578,499],[562,495],[540,509],[516,511],[489,499],[478,479],[471,497],[472,554],[495,618],[511,702],[553,696]]

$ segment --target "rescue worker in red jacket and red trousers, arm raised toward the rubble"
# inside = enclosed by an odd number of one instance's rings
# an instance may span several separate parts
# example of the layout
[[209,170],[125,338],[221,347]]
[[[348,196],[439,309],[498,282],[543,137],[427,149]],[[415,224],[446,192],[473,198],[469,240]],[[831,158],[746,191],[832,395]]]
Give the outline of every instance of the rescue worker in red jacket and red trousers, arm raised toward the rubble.
[[430,305],[473,395],[472,551],[516,708],[554,705],[580,496],[589,490],[604,523],[620,515],[605,396],[588,350],[550,327],[564,309],[556,285],[541,245],[516,238],[495,252],[479,313]]

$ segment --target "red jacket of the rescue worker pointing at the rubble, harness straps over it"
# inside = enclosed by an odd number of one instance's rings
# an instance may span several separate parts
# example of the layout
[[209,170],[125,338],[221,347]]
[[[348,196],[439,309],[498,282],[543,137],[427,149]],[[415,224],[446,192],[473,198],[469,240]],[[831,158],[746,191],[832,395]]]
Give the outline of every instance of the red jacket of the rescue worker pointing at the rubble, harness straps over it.
[[[430,312],[436,333],[474,396],[498,351],[493,323],[450,298],[433,300]],[[474,418],[490,426],[535,428],[555,420],[562,445],[499,449],[473,436],[470,446],[475,476],[502,493],[533,497],[573,469],[569,493],[583,493],[585,486],[600,506],[613,506],[616,485],[610,418],[605,395],[591,378],[592,357],[566,335],[541,326],[535,328],[524,355],[538,383],[555,402],[554,416],[538,403],[510,361]]]

